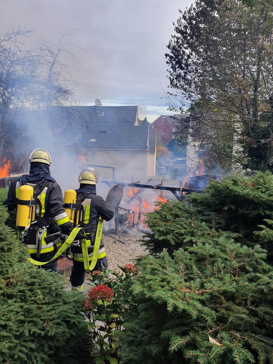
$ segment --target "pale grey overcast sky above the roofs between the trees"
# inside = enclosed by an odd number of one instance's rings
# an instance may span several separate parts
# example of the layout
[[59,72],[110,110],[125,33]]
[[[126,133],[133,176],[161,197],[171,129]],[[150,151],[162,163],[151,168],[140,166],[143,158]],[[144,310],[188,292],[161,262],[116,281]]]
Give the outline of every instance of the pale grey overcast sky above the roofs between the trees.
[[[19,25],[36,39],[56,42],[76,29],[72,41],[78,63],[71,70],[80,103],[138,105],[139,118],[153,122],[168,115],[166,45],[179,8],[191,0],[1,0],[0,33]],[[58,34],[59,33],[59,34]],[[163,88],[163,90],[162,90]]]

